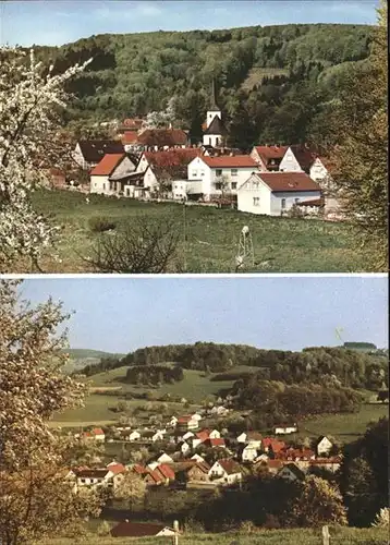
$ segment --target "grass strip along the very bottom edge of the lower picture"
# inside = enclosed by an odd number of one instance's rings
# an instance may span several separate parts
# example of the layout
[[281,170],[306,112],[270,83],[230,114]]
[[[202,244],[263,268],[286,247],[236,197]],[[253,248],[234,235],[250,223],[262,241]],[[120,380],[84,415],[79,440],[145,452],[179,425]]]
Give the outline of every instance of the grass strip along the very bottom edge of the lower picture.
[[[378,529],[356,529],[356,528],[330,528],[331,545],[387,545],[388,531]],[[71,545],[71,540],[48,540],[38,545]],[[149,545],[158,543],[168,545],[172,543],[171,537],[141,537],[141,538],[119,538],[119,537],[98,537],[90,536],[83,540],[85,545],[124,545],[125,543],[136,543],[137,545]],[[260,530],[253,533],[226,534],[190,534],[182,535],[179,538],[180,545],[319,545],[322,543],[320,529],[297,529],[297,530]]]

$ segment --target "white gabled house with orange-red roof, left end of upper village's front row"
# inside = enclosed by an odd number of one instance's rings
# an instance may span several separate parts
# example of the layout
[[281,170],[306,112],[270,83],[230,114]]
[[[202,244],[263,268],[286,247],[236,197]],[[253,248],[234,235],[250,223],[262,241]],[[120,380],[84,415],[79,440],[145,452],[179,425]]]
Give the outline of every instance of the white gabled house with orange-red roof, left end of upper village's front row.
[[117,179],[135,171],[134,162],[126,154],[108,154],[90,171],[90,193],[114,195],[118,193]]

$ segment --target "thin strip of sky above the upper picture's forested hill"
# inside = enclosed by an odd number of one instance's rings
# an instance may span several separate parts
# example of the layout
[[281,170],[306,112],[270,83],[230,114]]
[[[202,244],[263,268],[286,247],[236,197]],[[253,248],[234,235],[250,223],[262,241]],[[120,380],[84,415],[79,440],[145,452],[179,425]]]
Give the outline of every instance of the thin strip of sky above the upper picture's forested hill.
[[378,0],[0,1],[0,43],[59,46],[105,33],[285,23],[375,24]]

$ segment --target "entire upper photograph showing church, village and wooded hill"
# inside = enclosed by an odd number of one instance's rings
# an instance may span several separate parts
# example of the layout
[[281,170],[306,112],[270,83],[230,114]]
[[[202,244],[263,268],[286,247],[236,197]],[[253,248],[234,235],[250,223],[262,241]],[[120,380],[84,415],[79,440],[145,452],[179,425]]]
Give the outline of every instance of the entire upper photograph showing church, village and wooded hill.
[[388,271],[387,10],[0,2],[0,275]]

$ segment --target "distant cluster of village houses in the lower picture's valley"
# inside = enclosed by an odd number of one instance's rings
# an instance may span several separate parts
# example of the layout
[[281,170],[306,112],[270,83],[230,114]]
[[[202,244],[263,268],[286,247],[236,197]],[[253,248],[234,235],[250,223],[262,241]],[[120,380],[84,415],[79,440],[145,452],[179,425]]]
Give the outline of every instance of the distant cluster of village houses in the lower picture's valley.
[[[95,489],[111,500],[121,500],[125,479],[143,480],[146,491],[241,491],[251,476],[269,475],[288,482],[304,481],[306,475],[334,474],[341,463],[339,447],[331,438],[320,436],[309,441],[300,440],[296,423],[273,426],[267,436],[246,429],[231,433],[218,426],[218,419],[232,409],[217,402],[191,414],[167,419],[163,426],[90,427],[75,434],[84,445],[129,446],[146,456],[137,462],[95,463],[70,468],[66,481],[74,493]],[[216,427],[208,424],[217,423]],[[219,429],[221,427],[221,429]],[[154,453],[151,453],[154,452]],[[101,457],[102,458],[102,457]],[[127,481],[129,482],[129,481]],[[111,536],[174,535],[169,526],[154,523],[121,521],[111,529]],[[162,533],[161,533],[162,532]]]

